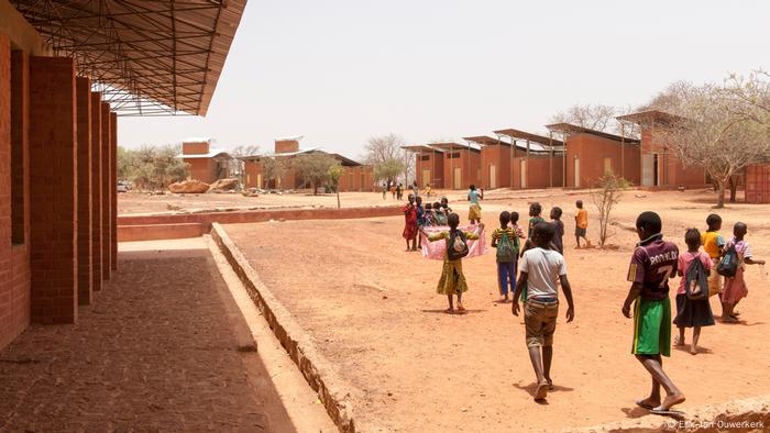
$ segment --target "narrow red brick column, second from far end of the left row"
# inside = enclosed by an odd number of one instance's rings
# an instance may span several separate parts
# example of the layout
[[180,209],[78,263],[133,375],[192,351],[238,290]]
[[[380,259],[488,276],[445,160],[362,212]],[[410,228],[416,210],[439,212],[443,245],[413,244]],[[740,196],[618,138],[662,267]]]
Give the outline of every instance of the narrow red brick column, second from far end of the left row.
[[[112,248],[110,240],[112,238],[112,216],[110,210],[112,207],[112,196],[110,192],[110,104],[101,102],[101,279],[112,278],[112,267],[110,265],[110,255]],[[114,191],[112,191],[114,193]]]

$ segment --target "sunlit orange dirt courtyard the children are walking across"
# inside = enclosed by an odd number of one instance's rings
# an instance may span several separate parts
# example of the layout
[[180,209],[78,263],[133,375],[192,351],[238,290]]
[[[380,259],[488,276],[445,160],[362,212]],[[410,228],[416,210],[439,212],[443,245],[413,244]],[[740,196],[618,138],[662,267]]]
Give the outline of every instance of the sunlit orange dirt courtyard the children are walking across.
[[[446,297],[436,295],[441,262],[404,252],[400,218],[226,229],[352,384],[354,413],[367,431],[413,431],[417,425],[436,432],[554,430],[646,415],[634,401],[650,388],[649,376],[630,355],[631,320],[620,313],[636,234],[615,227],[612,243],[618,251],[573,249],[574,200],[563,192],[539,198],[544,209],[565,210],[565,258],[576,315],[565,324],[562,303],[552,369],[557,388],[546,404],[531,398],[535,377],[522,319],[512,315],[509,303],[496,303],[493,254],[463,264],[470,312],[448,315],[442,313]],[[483,202],[487,236],[499,211],[526,214],[528,201],[508,192],[507,199]],[[616,218],[632,225],[639,212],[656,210],[663,216],[664,234],[683,247],[685,227],[703,229],[712,201],[705,191],[630,191]],[[466,202],[454,209],[466,218]],[[588,236],[595,241],[596,212],[591,204],[587,209]],[[722,210],[723,234],[740,219],[748,223],[756,257],[770,257],[768,211],[767,206],[746,204]],[[770,392],[770,297],[759,270],[747,271],[750,293],[738,307],[740,324],[706,327],[702,353],[674,349],[666,359],[667,371],[688,397],[682,410]],[[716,300],[712,308],[721,311]]]

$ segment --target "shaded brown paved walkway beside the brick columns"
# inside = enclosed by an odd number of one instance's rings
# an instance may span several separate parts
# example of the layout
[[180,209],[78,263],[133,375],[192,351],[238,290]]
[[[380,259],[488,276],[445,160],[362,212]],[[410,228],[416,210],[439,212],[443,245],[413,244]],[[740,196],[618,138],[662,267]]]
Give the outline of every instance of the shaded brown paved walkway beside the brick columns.
[[0,431],[266,431],[212,266],[207,249],[121,253],[77,324],[0,351]]

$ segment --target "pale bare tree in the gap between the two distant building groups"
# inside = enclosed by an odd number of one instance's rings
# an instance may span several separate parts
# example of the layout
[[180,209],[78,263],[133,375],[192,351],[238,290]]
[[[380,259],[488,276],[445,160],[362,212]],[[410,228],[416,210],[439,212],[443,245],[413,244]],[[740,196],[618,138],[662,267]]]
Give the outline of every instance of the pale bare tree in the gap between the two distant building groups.
[[408,178],[409,170],[414,171],[415,158],[402,146],[404,138],[396,134],[369,138],[364,147],[364,160],[374,167],[375,180],[395,181],[399,175]]

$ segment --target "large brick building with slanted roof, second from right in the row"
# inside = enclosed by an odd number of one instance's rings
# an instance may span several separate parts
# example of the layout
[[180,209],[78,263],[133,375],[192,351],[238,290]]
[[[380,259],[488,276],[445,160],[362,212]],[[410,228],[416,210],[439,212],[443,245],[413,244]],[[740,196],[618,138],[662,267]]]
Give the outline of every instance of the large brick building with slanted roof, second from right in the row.
[[639,141],[594,131],[569,123],[547,126],[566,138],[564,179],[566,188],[591,188],[604,176],[614,173],[634,185],[639,185]]

